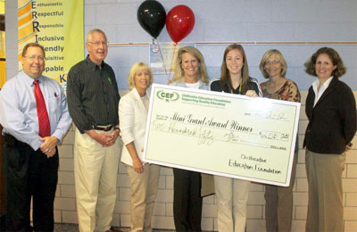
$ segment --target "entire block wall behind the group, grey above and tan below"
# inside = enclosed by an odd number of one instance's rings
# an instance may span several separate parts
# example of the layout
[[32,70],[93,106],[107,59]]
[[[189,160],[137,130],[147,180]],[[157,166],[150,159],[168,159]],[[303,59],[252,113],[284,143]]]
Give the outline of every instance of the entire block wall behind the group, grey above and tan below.
[[[137,7],[143,0],[84,0],[84,28],[104,29],[111,43],[150,43],[151,37],[137,22]],[[293,79],[303,94],[314,78],[303,71],[303,62],[320,46],[332,46],[343,57],[347,73],[343,77],[357,96],[357,46],[338,45],[338,42],[357,41],[357,1],[355,0],[159,0],[166,12],[177,4],[187,4],[195,12],[195,29],[183,42],[272,41],[271,44],[245,45],[250,74],[263,81],[259,70],[262,54],[271,48],[284,54],[288,66],[286,78]],[[17,62],[17,1],[6,1],[6,75],[12,78],[18,70]],[[166,31],[158,37],[161,43],[171,42]],[[278,45],[279,41],[307,43]],[[336,41],[335,44],[330,44]],[[326,44],[324,44],[326,42]],[[220,75],[220,63],[227,45],[198,45],[205,57],[210,78]],[[149,62],[147,46],[113,46],[106,59],[114,69],[119,89],[126,91],[130,66],[134,62]],[[172,76],[172,74],[171,74]],[[166,83],[166,77],[155,76],[156,83]],[[357,97],[356,97],[357,98]],[[304,108],[300,116],[300,148],[307,125]],[[77,222],[73,178],[73,137],[71,130],[60,147],[61,164],[59,184],[55,199],[55,220]],[[345,231],[357,230],[357,139],[354,150],[347,155],[344,172]],[[154,228],[173,228],[172,220],[173,177],[170,169],[162,168],[158,197],[154,209]],[[295,182],[295,231],[303,231],[307,210],[307,181],[304,168],[304,151],[300,149]],[[215,197],[204,199],[203,229],[217,229]],[[129,180],[120,165],[118,197],[113,225],[129,227]],[[251,186],[248,207],[248,231],[263,231],[263,186]]]

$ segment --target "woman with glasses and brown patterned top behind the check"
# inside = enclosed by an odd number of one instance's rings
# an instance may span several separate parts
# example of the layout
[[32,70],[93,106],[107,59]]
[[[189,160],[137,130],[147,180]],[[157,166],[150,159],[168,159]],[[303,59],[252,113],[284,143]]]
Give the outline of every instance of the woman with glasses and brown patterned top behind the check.
[[[300,92],[295,82],[286,79],[286,61],[276,49],[267,51],[259,66],[265,79],[261,84],[263,97],[300,103]],[[293,217],[293,187],[298,153],[296,137],[295,157],[290,186],[265,186],[265,222],[267,231],[291,231]]]

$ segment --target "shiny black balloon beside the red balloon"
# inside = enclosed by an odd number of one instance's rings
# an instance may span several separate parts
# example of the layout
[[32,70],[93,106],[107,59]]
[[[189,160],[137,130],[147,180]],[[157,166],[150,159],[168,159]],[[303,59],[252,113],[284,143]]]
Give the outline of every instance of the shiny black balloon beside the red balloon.
[[137,9],[137,21],[147,33],[156,38],[165,26],[165,9],[155,0],[146,0]]

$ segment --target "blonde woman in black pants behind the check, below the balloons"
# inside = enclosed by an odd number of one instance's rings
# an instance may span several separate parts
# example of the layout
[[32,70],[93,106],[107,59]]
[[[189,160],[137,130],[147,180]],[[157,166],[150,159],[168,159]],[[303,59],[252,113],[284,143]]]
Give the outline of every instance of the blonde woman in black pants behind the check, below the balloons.
[[[203,55],[193,46],[181,47],[171,86],[207,89]],[[173,169],[173,218],[177,231],[201,231],[201,173]]]

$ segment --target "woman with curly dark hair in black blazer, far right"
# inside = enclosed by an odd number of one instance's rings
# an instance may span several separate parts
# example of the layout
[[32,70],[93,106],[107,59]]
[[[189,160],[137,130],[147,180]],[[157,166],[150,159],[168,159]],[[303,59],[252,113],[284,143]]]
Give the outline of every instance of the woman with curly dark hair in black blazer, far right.
[[309,119],[303,141],[309,183],[306,231],[343,231],[342,172],[356,133],[356,102],[351,88],[339,80],[346,70],[334,49],[320,48],[305,68],[318,77],[305,106]]

